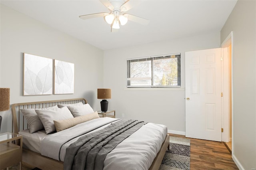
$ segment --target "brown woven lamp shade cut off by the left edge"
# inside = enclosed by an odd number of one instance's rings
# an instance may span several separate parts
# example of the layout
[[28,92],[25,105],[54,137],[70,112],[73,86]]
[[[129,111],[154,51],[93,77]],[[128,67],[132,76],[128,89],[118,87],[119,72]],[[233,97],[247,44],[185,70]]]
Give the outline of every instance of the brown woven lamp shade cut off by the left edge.
[[0,88],[0,111],[10,109],[10,88]]

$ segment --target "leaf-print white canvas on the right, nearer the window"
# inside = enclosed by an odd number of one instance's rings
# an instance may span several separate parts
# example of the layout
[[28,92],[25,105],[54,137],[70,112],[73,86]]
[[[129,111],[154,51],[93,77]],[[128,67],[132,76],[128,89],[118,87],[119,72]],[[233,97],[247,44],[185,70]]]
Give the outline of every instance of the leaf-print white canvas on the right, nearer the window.
[[74,93],[74,64],[54,60],[54,94]]

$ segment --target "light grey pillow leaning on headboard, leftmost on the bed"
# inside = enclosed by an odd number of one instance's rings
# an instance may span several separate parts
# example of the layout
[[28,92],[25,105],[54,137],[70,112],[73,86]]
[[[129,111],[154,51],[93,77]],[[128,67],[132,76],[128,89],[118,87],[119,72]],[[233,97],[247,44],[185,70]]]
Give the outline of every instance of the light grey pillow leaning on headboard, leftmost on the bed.
[[[46,107],[42,108],[44,110],[57,110],[58,106],[55,105],[53,107]],[[42,130],[44,128],[44,125],[40,121],[38,115],[36,114],[36,110],[40,109],[20,109],[22,114],[24,115],[25,119],[28,122],[28,128],[30,133],[37,132],[38,130]]]

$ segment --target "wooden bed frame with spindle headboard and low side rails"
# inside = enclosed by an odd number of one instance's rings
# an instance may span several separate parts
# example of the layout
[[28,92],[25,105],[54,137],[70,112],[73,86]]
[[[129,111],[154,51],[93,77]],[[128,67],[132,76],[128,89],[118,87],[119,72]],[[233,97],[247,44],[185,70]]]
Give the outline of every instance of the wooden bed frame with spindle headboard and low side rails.
[[[20,109],[40,109],[45,107],[51,107],[58,104],[72,104],[83,102],[87,103],[86,99],[78,98],[78,99],[64,99],[64,100],[54,100],[54,101],[38,101],[38,102],[28,102],[28,103],[15,103],[12,104],[12,132],[18,134],[19,131],[25,130],[28,128],[28,124],[24,119],[24,116],[20,112]],[[162,159],[164,158],[164,154],[166,149],[169,149],[169,134],[166,135],[164,142],[160,148],[160,151],[156,155],[152,165],[150,166],[150,170],[158,170]],[[32,152],[31,150],[23,149],[22,150],[22,161],[26,164],[30,164],[42,170],[63,170],[63,162],[54,160],[52,158],[48,158],[46,156],[42,156],[36,152]]]

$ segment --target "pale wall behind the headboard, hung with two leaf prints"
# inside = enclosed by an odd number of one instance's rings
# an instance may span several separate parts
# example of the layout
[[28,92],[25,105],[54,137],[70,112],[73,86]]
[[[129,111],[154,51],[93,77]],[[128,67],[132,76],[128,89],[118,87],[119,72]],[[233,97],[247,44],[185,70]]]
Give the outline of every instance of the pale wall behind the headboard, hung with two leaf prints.
[[[10,104],[83,97],[100,108],[97,88],[103,86],[103,51],[1,5],[0,87],[10,87]],[[69,95],[22,96],[22,53],[74,63],[75,92]],[[10,111],[3,116],[1,132],[11,131]]]

